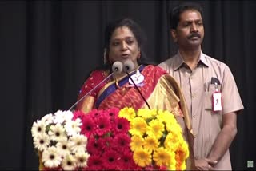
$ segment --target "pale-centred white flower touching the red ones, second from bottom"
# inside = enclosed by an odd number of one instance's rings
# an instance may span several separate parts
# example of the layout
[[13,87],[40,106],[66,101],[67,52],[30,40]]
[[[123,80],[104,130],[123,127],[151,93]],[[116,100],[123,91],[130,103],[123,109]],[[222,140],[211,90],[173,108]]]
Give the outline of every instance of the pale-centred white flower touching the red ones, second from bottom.
[[70,149],[72,153],[77,153],[79,151],[85,151],[86,150],[86,145],[87,145],[87,137],[83,135],[74,135],[70,137]]

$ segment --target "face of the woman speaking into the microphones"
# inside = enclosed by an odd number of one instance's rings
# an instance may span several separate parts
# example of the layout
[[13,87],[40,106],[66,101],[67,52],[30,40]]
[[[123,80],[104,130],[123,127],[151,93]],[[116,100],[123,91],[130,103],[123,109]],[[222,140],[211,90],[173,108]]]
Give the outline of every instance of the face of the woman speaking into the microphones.
[[133,32],[127,26],[121,26],[114,30],[110,38],[110,63],[125,62],[130,59],[134,67],[138,67],[137,59],[140,58],[140,48]]

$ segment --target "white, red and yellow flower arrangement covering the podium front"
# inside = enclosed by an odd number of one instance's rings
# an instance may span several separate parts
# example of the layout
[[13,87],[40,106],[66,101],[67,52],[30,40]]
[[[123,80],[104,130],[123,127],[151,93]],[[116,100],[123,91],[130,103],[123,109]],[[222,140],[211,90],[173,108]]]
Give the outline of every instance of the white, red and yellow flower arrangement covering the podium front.
[[59,110],[31,133],[44,170],[184,170],[189,156],[174,115],[156,109]]

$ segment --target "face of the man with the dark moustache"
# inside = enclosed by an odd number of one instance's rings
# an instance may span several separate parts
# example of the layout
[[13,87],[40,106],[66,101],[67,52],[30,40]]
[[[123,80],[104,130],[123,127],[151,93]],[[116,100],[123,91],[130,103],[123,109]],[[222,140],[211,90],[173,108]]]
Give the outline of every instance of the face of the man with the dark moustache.
[[180,20],[176,30],[171,30],[174,42],[183,49],[201,47],[204,37],[202,16],[198,10],[185,10],[180,14]]

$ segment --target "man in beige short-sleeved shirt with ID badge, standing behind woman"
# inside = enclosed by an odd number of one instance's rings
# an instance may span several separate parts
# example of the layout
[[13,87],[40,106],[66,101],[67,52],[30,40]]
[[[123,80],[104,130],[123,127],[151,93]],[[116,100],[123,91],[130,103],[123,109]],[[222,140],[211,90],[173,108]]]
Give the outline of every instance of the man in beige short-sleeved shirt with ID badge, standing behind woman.
[[226,64],[202,53],[201,6],[175,7],[170,33],[178,53],[159,66],[176,79],[186,98],[195,137],[194,164],[197,169],[230,170],[229,147],[243,109],[233,74]]

